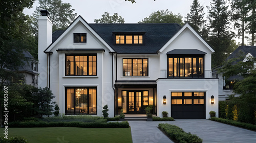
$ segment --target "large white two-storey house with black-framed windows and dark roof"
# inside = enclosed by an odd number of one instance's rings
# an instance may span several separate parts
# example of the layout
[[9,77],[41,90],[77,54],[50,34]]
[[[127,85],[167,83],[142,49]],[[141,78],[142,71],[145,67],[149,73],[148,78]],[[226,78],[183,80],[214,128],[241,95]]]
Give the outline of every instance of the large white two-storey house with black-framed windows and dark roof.
[[[78,16],[52,33],[46,10],[39,16],[39,85],[53,91],[60,113],[109,116],[167,111],[174,118],[218,115],[214,50],[188,24],[89,24]],[[211,97],[214,103],[211,104]]]

